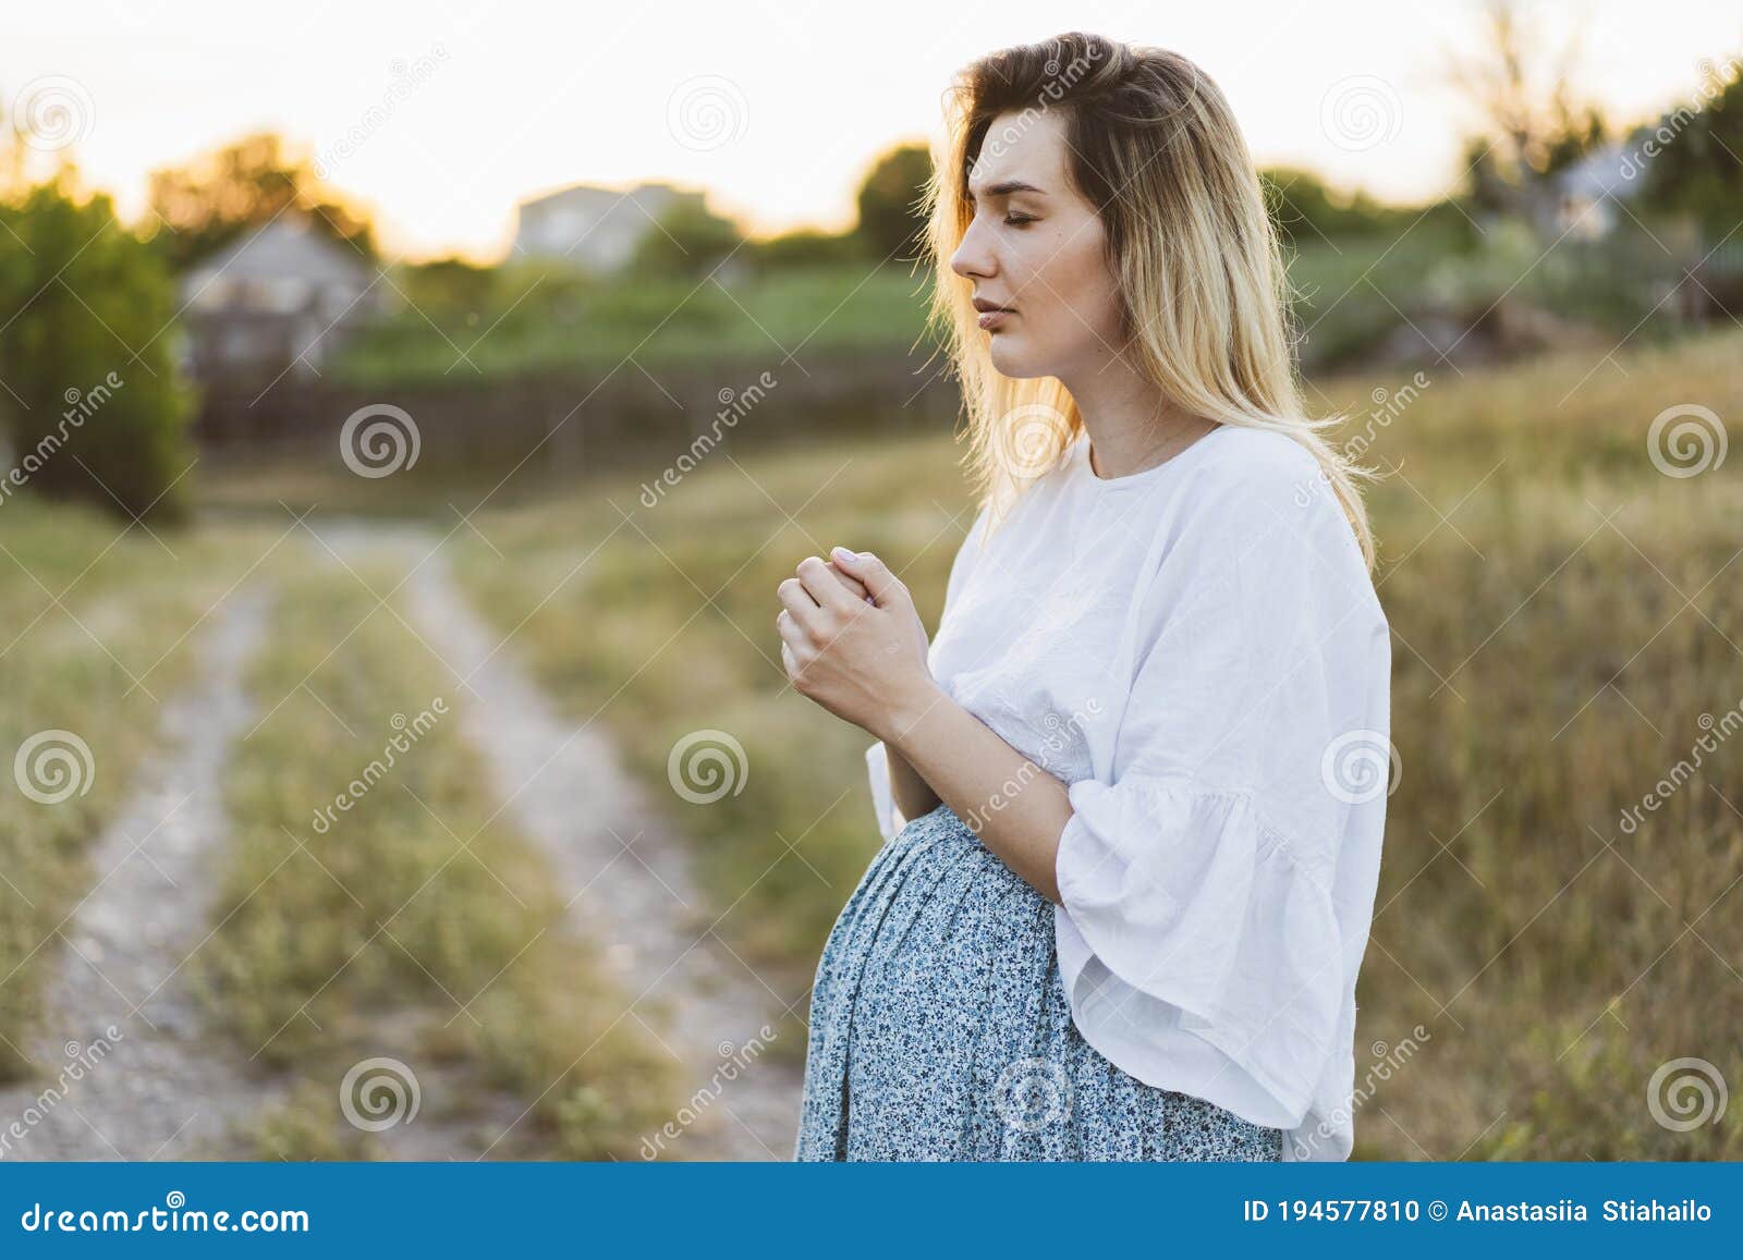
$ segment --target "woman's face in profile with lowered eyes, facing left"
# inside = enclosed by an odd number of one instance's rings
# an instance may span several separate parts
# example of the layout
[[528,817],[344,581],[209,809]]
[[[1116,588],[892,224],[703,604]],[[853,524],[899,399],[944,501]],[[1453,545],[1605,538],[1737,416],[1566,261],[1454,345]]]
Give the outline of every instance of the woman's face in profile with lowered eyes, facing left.
[[950,268],[974,282],[1006,376],[1072,378],[1117,357],[1119,298],[1095,207],[1067,174],[1058,112],[999,115],[969,171],[974,220]]

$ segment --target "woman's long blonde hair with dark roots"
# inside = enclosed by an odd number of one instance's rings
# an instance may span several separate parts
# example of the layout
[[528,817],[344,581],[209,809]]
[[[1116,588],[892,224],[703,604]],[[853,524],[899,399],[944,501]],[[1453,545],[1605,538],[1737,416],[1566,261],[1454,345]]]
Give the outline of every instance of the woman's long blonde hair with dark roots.
[[[1283,249],[1227,99],[1178,52],[1079,31],[959,71],[946,94],[946,152],[926,190],[931,322],[962,385],[964,462],[976,497],[992,505],[988,525],[1056,465],[1082,417],[1058,378],[1018,380],[994,368],[974,284],[950,258],[974,218],[967,180],[983,146],[1021,134],[1053,108],[1063,112],[1072,181],[1107,235],[1124,345],[1187,415],[1272,429],[1306,446],[1372,570],[1373,533],[1356,481],[1375,474],[1319,436],[1346,417],[1309,418],[1302,406]],[[1006,113],[1018,117],[992,134]]]

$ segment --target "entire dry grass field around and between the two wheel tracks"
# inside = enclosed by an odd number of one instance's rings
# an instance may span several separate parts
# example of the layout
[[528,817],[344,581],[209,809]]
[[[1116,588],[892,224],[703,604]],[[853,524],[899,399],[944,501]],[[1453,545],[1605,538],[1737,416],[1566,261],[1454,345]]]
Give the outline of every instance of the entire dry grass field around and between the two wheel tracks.
[[[1677,404],[1743,415],[1740,354],[1733,329],[1597,366],[1316,382],[1391,471],[1370,505],[1401,779],[1358,993],[1358,1157],[1743,1157],[1736,1126],[1677,1131],[1649,1101],[1679,1058],[1743,1080],[1743,774],[1729,744],[1699,748],[1743,723],[1743,476],[1734,458],[1670,476],[1666,443],[1658,460],[1649,443]],[[235,831],[190,972],[211,1044],[295,1086],[260,1117],[258,1150],[378,1154],[310,1117],[331,1112],[345,1065],[404,1051],[481,1110],[532,1107],[523,1150],[626,1154],[669,1114],[662,1056],[614,1028],[624,999],[594,965],[601,943],[554,927],[549,873],[458,723],[434,723],[343,826],[312,828],[392,715],[465,697],[371,612],[392,572],[324,563],[277,500],[448,533],[500,650],[614,735],[690,843],[704,920],[795,999],[878,833],[870,737],[786,685],[774,589],[837,542],[873,549],[934,624],[973,519],[957,460],[948,434],[720,450],[654,507],[640,488],[657,467],[560,497],[511,481],[488,502],[490,484],[408,493],[275,469],[214,479],[223,512],[162,542],[0,507],[0,748],[66,728],[94,765],[52,809],[0,795],[0,1070],[23,1072],[14,1044],[40,1030],[54,929],[101,877],[85,849],[159,739],[145,688],[188,680],[204,613],[249,575],[275,587],[248,676],[267,720],[225,774]],[[455,509],[481,502],[462,525]],[[699,730],[746,755],[739,789],[708,805],[668,777]],[[772,1053],[802,1051],[795,1032]]]

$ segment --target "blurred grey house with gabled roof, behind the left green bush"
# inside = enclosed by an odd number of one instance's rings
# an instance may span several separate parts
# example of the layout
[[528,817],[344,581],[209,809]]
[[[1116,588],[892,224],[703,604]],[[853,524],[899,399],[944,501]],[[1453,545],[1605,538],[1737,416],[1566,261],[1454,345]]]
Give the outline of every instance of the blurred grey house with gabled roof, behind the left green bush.
[[319,375],[382,310],[370,265],[288,211],[181,279],[188,368],[202,380]]

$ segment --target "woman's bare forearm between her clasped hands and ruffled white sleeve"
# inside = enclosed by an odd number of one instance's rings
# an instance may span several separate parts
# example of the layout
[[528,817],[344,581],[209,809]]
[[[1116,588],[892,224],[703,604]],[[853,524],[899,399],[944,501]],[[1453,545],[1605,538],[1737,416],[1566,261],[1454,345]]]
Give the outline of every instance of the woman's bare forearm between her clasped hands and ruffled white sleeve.
[[1058,903],[1060,835],[1072,817],[1065,784],[931,681],[894,704],[884,727],[873,734],[885,748],[1006,866]]

